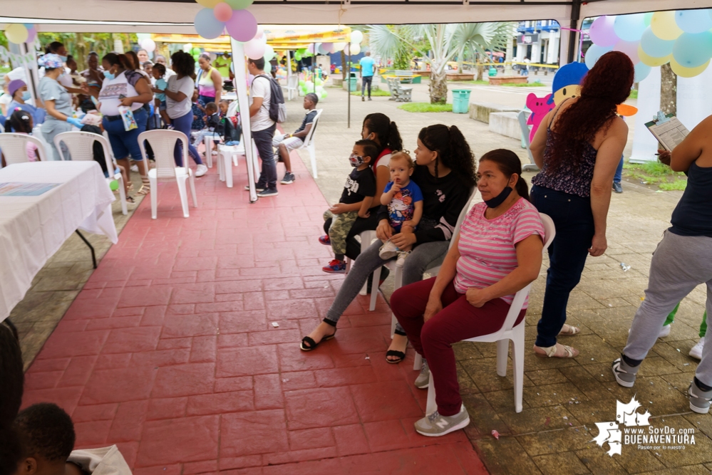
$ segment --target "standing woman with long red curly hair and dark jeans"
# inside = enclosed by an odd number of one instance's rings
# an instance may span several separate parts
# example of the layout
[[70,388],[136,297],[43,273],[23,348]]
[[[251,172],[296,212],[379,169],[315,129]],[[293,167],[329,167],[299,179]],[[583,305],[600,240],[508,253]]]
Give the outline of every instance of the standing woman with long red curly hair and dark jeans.
[[532,203],[556,226],[537,325],[537,356],[579,354],[557,343],[557,336],[579,333],[565,323],[569,293],[581,279],[587,256],[601,256],[607,248],[613,177],[628,139],[628,126],[616,115],[616,106],[628,98],[631,85],[630,58],[619,51],[604,54],[584,78],[581,95],[548,113],[542,120],[546,127],[539,127],[530,145],[542,170],[532,179]]

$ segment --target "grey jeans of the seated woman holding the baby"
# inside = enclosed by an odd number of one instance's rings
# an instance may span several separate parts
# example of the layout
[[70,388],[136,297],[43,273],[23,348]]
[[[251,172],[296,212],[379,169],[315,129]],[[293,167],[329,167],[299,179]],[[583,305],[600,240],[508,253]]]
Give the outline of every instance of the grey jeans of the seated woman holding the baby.
[[[403,265],[403,286],[421,281],[425,270],[443,263],[445,254],[448,253],[448,244],[450,244],[449,241],[433,241],[415,246]],[[381,256],[378,255],[381,246],[383,246],[383,243],[377,239],[351,265],[351,270],[346,274],[344,283],[341,284],[339,293],[334,298],[334,303],[331,303],[331,307],[326,311],[326,318],[334,322],[334,324],[339,321],[346,307],[361,291],[361,287],[368,280],[368,276],[387,261],[396,259],[395,257],[393,259],[381,259]],[[378,284],[374,283],[371,292],[376,291],[376,285]],[[401,325],[398,325],[396,330],[403,332]]]

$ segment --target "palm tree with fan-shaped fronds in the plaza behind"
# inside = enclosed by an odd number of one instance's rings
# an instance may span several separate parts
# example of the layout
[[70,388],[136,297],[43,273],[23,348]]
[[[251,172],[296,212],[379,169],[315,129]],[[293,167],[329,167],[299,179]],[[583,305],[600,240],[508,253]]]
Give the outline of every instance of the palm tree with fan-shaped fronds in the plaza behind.
[[[430,103],[435,104],[448,98],[448,61],[457,57],[461,62],[467,51],[480,56],[485,50],[502,51],[512,37],[512,24],[369,25],[368,36],[371,50],[382,58],[396,58],[404,45],[423,56],[430,65]],[[423,40],[426,48],[418,46]]]

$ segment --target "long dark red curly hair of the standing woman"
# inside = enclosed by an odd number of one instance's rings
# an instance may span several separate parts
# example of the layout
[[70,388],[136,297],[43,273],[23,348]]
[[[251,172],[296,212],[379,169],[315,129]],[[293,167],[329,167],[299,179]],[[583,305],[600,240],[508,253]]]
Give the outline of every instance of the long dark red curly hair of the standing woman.
[[599,58],[584,78],[581,96],[555,119],[556,140],[547,167],[555,171],[564,163],[579,165],[586,143],[610,127],[616,105],[630,95],[633,75],[633,63],[625,53],[610,51]]

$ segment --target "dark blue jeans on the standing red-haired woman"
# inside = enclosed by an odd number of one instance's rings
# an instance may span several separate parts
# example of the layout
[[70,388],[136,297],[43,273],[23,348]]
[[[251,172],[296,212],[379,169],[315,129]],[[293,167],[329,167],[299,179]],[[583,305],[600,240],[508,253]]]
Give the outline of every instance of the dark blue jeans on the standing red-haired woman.
[[534,185],[532,204],[540,213],[548,214],[556,226],[556,236],[549,246],[547,288],[535,343],[547,348],[556,345],[566,322],[569,293],[581,280],[595,229],[590,198]]

